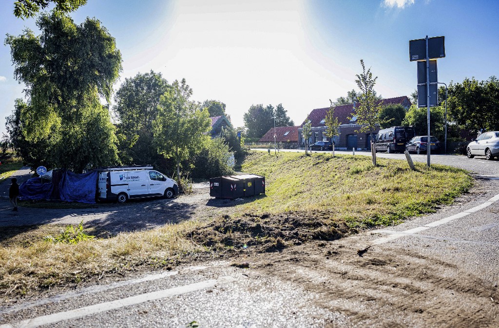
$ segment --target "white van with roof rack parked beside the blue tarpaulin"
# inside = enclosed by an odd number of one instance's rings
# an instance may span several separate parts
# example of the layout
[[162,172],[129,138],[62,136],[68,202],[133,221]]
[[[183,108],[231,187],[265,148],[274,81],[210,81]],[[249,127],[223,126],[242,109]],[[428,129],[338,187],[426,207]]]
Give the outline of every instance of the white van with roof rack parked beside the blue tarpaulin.
[[97,186],[99,201],[125,203],[131,198],[165,196],[172,198],[179,193],[174,180],[153,170],[152,166],[120,166],[99,170]]

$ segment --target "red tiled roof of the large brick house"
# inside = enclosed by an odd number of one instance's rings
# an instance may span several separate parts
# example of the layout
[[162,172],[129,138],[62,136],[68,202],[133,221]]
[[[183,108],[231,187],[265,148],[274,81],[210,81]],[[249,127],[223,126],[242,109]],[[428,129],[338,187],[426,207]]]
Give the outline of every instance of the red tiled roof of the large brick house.
[[[389,105],[389,104],[408,104],[408,106],[411,105],[411,100],[407,96],[401,96],[401,97],[395,97],[395,98],[387,98],[383,99],[383,106]],[[355,116],[352,115],[353,113],[353,105],[354,104],[348,104],[348,105],[341,105],[341,106],[336,106],[334,107],[334,116],[338,118],[338,122],[340,124],[348,124],[348,123],[355,123]],[[324,118],[326,117],[327,112],[329,111],[329,107],[325,108],[316,108],[313,109],[310,114],[308,114],[307,118],[299,127],[302,127],[303,124],[306,123],[307,120],[311,121],[311,125],[313,127],[319,127],[319,126],[324,126]],[[350,121],[349,117],[352,117],[352,121]]]

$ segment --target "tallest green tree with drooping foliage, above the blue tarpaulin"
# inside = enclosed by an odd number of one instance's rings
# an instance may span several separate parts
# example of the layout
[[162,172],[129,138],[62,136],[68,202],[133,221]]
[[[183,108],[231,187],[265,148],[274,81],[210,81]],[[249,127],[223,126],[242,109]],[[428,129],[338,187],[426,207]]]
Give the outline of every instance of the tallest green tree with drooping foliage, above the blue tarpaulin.
[[[23,138],[47,142],[45,160],[81,172],[116,164],[116,137],[108,102],[121,71],[115,39],[97,19],[76,25],[59,14],[41,14],[41,34],[26,29],[7,35],[14,77],[26,85],[27,103],[17,104]],[[37,165],[38,163],[27,163]]]

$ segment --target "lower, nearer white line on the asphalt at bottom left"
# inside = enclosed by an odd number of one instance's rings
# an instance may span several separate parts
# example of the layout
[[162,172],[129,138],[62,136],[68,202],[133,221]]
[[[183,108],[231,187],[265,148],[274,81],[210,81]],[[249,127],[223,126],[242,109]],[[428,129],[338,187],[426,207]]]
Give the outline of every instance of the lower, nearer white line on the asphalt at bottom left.
[[105,302],[100,304],[91,305],[88,307],[83,307],[79,309],[74,309],[65,312],[54,313],[51,315],[36,317],[32,319],[26,319],[14,324],[4,324],[0,325],[0,328],[34,328],[43,325],[50,325],[58,323],[64,320],[70,320],[75,318],[81,318],[84,316],[95,315],[101,312],[111,311],[115,309],[121,309],[131,305],[136,305],[140,303],[145,303],[148,301],[155,301],[159,299],[164,299],[167,297],[172,297],[176,295],[187,294],[190,292],[199,291],[205,288],[214,287],[219,284],[232,283],[238,279],[230,276],[220,277],[219,279],[205,280],[199,283],[194,283],[185,286],[174,287],[162,291],[146,293],[136,296],[127,297],[121,300],[116,300],[112,302]]

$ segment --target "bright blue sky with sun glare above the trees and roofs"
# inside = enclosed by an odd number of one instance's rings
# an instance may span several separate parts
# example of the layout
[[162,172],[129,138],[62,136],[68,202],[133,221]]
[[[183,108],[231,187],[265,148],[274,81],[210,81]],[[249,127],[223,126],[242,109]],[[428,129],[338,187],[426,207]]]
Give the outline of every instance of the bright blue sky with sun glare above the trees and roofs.
[[[0,35],[36,31],[34,19],[15,18],[13,0],[0,4]],[[123,57],[125,77],[161,72],[186,78],[193,99],[227,104],[236,126],[251,104],[282,103],[296,124],[313,108],[356,88],[364,59],[384,97],[416,88],[409,40],[445,36],[440,82],[499,76],[499,2],[460,0],[88,0],[71,13],[101,20]],[[36,32],[38,34],[38,32]],[[0,133],[22,97],[10,49],[0,50]]]

